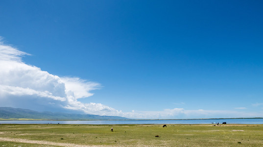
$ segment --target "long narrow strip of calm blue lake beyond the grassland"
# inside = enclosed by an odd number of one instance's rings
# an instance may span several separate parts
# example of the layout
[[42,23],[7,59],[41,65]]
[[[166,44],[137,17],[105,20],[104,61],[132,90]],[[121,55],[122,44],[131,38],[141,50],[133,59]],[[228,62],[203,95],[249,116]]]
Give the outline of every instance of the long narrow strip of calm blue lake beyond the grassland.
[[0,121],[16,124],[263,124],[263,119],[207,119],[207,120],[121,120],[121,121]]

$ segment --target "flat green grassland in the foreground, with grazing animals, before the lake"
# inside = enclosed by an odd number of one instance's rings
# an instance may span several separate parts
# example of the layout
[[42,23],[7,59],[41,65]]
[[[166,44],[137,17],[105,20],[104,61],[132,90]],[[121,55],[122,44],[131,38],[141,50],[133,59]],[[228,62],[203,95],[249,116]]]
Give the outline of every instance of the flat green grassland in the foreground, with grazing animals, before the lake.
[[263,147],[263,124],[0,124],[0,147],[19,146]]

